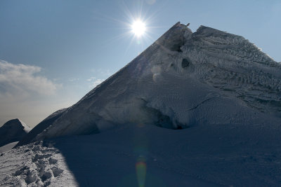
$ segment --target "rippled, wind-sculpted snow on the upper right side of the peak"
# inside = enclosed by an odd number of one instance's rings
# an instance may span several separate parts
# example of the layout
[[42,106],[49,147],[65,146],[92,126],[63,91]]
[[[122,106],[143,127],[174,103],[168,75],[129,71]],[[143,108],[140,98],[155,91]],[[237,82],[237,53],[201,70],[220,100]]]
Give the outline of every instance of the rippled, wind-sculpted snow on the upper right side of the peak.
[[[264,113],[281,116],[281,65],[242,36],[200,27],[184,55],[204,83]],[[198,53],[200,51],[200,53]]]

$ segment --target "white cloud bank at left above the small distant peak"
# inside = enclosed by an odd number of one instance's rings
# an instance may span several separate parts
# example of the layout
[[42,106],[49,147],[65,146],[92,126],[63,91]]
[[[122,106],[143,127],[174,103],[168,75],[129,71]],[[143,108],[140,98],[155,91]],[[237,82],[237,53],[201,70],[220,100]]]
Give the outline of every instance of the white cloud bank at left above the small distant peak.
[[60,85],[40,76],[41,67],[0,60],[0,95],[54,95]]

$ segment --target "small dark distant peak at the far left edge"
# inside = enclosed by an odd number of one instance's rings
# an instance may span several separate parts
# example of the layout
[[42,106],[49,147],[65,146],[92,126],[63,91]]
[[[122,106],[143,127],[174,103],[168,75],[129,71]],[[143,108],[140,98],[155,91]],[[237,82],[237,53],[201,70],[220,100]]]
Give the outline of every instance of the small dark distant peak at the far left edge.
[[0,147],[15,141],[20,141],[30,130],[31,127],[27,126],[19,119],[7,121],[0,127]]

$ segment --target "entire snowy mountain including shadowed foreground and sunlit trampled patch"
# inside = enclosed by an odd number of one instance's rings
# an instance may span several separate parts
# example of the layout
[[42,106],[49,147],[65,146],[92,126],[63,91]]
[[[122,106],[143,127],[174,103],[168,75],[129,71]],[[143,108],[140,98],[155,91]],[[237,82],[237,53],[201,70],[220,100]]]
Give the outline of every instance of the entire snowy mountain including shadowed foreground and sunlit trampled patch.
[[177,23],[1,153],[0,186],[281,186],[280,76],[242,36]]

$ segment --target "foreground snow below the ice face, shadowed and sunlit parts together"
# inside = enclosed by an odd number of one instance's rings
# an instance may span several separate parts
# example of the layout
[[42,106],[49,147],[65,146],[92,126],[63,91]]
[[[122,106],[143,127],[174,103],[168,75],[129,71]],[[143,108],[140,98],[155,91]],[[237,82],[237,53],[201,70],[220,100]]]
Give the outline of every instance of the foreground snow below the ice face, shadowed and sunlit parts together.
[[0,186],[280,186],[280,129],[229,126],[126,124],[20,146],[0,156]]

